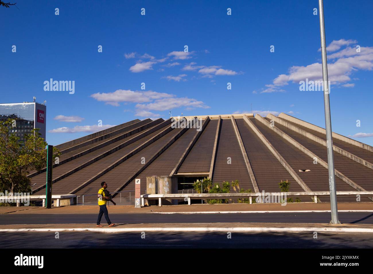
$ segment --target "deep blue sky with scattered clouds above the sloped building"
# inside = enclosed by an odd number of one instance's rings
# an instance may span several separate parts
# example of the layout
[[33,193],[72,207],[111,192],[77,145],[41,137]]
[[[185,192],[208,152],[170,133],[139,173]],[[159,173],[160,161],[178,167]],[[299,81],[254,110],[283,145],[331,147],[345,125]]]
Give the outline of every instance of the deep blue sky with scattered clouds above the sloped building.
[[[325,127],[322,92],[299,90],[322,75],[317,0],[16,2],[0,7],[0,101],[46,100],[49,144],[103,129],[98,120],[242,113],[251,104],[262,116]],[[324,9],[332,129],[373,145],[373,1],[325,0]],[[75,93],[44,91],[50,78],[75,81]]]

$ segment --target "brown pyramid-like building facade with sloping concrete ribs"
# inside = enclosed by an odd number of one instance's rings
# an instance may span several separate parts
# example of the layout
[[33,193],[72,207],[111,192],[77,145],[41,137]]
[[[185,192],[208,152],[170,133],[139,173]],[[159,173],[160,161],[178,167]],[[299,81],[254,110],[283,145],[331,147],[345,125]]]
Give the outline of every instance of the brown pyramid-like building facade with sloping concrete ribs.
[[[53,194],[95,194],[102,181],[114,192],[134,190],[135,178],[145,184],[152,175],[181,182],[209,174],[214,183],[239,180],[253,191],[279,192],[281,180],[291,182],[292,192],[329,191],[322,128],[283,113],[197,118],[204,123],[200,133],[175,128],[173,119],[137,119],[56,146],[62,155],[53,167]],[[372,147],[333,136],[337,190],[373,191]],[[33,193],[45,193],[45,170],[30,177]]]

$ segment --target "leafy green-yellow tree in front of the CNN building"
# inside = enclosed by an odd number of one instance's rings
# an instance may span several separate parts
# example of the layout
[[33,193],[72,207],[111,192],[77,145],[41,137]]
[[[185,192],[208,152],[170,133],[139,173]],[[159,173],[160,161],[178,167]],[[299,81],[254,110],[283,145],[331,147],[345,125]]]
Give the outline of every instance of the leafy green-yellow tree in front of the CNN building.
[[[15,133],[9,133],[12,120],[0,122],[0,191],[28,192],[31,190],[30,171],[40,171],[47,164],[47,142],[40,137],[39,129],[25,134],[21,141]],[[53,158],[61,153],[53,148]]]

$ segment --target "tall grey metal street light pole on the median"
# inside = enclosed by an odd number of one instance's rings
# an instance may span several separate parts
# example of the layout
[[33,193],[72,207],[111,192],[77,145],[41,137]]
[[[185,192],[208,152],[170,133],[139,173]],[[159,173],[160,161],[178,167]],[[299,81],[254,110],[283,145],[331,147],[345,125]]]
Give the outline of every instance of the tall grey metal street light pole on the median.
[[323,86],[324,86],[324,106],[325,106],[325,129],[326,129],[326,145],[327,145],[327,162],[329,171],[329,189],[330,189],[330,208],[332,213],[331,224],[339,224],[338,208],[337,208],[337,193],[335,187],[334,175],[334,158],[333,158],[333,140],[332,140],[332,122],[330,119],[330,103],[329,103],[329,81],[327,78],[327,63],[326,63],[326,42],[325,42],[325,26],[324,26],[324,4],[323,0],[319,0],[320,13],[320,36],[321,36],[321,53],[323,63]]

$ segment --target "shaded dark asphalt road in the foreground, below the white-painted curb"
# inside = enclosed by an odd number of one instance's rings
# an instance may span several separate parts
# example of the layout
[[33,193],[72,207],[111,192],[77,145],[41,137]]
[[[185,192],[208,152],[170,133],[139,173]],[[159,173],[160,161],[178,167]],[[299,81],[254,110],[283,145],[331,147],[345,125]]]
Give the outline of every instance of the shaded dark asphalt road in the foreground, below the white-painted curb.
[[[7,248],[373,248],[371,234],[318,233],[1,233]],[[107,246],[109,245],[109,246]]]

